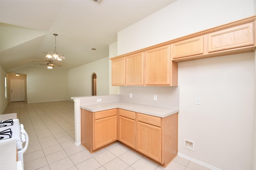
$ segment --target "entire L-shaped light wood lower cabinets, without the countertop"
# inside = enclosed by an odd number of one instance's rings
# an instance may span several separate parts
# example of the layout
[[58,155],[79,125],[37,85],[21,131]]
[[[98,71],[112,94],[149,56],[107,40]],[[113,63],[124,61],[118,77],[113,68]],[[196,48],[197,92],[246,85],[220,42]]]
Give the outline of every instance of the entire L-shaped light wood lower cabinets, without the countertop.
[[81,109],[81,143],[86,149],[95,152],[117,140],[166,167],[178,152],[178,113],[162,118],[124,109]]

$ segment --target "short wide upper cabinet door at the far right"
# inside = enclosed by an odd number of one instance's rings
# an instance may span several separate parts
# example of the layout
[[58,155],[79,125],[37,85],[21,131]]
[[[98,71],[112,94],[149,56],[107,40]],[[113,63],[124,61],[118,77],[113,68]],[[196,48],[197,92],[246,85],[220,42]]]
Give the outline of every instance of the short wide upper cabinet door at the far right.
[[254,45],[254,25],[246,23],[208,35],[209,52]]

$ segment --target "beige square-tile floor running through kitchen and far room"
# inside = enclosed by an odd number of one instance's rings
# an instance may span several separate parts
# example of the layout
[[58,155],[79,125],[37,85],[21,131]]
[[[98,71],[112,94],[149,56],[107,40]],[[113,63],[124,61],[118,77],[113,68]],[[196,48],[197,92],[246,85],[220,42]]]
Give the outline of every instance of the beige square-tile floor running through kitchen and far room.
[[209,170],[177,156],[166,168],[114,143],[90,154],[74,145],[74,102],[12,102],[4,113],[17,113],[29,136],[24,170]]

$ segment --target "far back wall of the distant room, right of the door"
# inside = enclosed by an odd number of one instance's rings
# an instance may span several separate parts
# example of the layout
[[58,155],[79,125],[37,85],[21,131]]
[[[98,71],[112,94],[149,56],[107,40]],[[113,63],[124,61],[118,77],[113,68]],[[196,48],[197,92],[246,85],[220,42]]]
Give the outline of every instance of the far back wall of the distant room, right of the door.
[[27,102],[68,100],[68,71],[28,67],[16,70],[27,74]]

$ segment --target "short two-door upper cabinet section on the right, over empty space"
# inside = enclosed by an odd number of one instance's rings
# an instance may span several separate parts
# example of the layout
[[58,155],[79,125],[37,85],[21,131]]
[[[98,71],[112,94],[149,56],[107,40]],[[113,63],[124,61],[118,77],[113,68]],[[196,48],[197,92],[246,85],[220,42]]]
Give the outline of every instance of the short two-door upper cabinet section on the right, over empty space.
[[256,47],[254,27],[255,16],[176,39],[171,44],[172,61],[253,52]]

